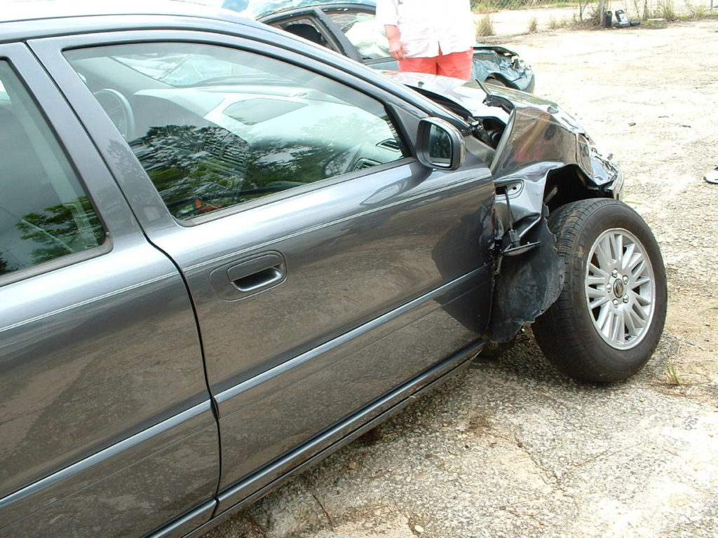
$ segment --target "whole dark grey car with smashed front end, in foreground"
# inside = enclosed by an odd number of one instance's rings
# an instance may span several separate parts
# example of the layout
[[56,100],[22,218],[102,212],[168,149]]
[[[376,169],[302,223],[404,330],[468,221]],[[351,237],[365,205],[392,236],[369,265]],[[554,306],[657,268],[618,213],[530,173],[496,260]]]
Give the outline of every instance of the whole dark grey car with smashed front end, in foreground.
[[570,115],[228,10],[0,11],[0,538],[198,537],[523,326],[635,373],[658,245]]

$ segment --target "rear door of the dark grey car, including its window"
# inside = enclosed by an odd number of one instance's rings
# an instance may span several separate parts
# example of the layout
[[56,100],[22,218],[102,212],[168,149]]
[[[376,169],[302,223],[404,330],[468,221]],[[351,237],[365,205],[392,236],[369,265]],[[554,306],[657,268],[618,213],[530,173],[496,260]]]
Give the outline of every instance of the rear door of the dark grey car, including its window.
[[0,45],[0,535],[139,536],[212,513],[190,298],[37,60]]

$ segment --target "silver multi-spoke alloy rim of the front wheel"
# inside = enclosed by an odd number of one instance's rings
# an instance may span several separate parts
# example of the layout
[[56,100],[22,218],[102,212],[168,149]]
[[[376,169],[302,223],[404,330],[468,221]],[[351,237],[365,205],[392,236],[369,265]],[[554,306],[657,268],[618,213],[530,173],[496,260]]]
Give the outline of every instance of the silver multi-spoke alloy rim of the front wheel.
[[643,340],[655,311],[656,279],[635,235],[612,228],[597,237],[588,257],[584,293],[593,326],[609,346],[631,349]]

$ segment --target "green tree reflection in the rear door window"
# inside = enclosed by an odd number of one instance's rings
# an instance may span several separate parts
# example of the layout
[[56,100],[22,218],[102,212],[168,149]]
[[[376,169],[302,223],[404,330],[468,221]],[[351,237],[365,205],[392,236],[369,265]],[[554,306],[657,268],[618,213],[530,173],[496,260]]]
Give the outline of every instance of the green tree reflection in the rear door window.
[[[76,214],[80,214],[81,223]],[[105,235],[87,197],[25,214],[15,226],[22,240],[37,245],[32,250],[35,265],[96,247]]]

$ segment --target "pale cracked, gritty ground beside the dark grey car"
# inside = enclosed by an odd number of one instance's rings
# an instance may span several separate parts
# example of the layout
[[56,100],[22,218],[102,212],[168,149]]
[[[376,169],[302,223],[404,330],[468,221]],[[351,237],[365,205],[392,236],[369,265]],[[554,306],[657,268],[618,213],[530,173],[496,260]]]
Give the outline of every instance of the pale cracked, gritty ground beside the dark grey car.
[[658,351],[582,386],[526,334],[208,537],[718,535],[718,20],[505,43],[623,166],[668,271]]

